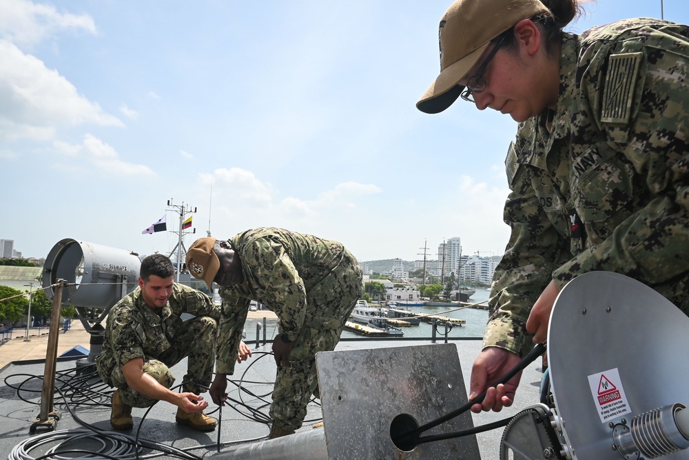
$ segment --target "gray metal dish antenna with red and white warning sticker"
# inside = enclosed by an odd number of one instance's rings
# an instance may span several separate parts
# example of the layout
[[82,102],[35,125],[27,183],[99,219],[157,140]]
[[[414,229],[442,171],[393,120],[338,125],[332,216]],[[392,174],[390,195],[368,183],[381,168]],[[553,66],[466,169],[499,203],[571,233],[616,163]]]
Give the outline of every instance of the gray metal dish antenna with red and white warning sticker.
[[589,272],[564,287],[548,363],[565,458],[689,459],[688,330],[686,314],[624,275]]

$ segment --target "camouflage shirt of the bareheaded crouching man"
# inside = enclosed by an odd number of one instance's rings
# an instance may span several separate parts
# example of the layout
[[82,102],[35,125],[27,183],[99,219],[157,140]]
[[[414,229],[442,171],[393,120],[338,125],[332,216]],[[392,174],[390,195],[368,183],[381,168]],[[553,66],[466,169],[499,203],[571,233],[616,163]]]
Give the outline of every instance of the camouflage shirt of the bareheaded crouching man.
[[[158,316],[146,305],[141,288],[123,297],[107,314],[103,349],[96,357],[96,367],[106,383],[123,382],[122,366],[134,358],[157,359],[174,343],[183,327],[183,313],[220,319],[220,306],[203,292],[174,283],[172,295]],[[117,378],[113,382],[113,372]]]

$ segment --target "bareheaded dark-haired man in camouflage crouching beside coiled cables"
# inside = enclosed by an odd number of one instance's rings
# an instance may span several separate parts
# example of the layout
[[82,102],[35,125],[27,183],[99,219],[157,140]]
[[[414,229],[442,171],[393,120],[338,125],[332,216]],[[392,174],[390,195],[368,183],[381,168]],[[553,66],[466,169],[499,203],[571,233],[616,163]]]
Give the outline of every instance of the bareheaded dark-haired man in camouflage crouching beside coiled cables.
[[[211,382],[220,307],[203,292],[174,283],[174,267],[163,254],[143,259],[140,274],[139,287],[108,313],[103,349],[96,357],[103,381],[117,388],[111,424],[130,429],[132,406],[163,400],[178,406],[177,423],[214,430],[215,420],[202,412],[208,403],[198,394]],[[196,316],[183,321],[185,312]],[[183,392],[173,392],[169,368],[185,357]]]

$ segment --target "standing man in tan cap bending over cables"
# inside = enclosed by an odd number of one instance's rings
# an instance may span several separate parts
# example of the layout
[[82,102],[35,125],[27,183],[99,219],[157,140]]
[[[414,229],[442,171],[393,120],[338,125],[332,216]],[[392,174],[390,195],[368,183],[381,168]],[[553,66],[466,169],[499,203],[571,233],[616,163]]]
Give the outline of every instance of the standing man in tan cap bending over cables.
[[302,426],[311,394],[318,395],[316,352],[333,350],[345,322],[363,294],[362,271],[337,241],[279,228],[255,228],[229,241],[198,239],[187,252],[189,272],[212,286],[223,299],[216,378],[211,397],[223,403],[226,375],[249,302],[265,304],[278,316],[273,341],[278,364],[269,437],[291,434]]

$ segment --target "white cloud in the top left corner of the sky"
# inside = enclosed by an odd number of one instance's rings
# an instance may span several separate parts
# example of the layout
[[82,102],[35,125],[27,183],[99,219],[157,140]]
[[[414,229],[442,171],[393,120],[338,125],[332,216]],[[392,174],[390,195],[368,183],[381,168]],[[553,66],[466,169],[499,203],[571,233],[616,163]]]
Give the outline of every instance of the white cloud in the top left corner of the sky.
[[88,14],[62,14],[52,5],[26,0],[0,1],[3,39],[18,45],[33,45],[62,30],[96,34],[96,24]]

